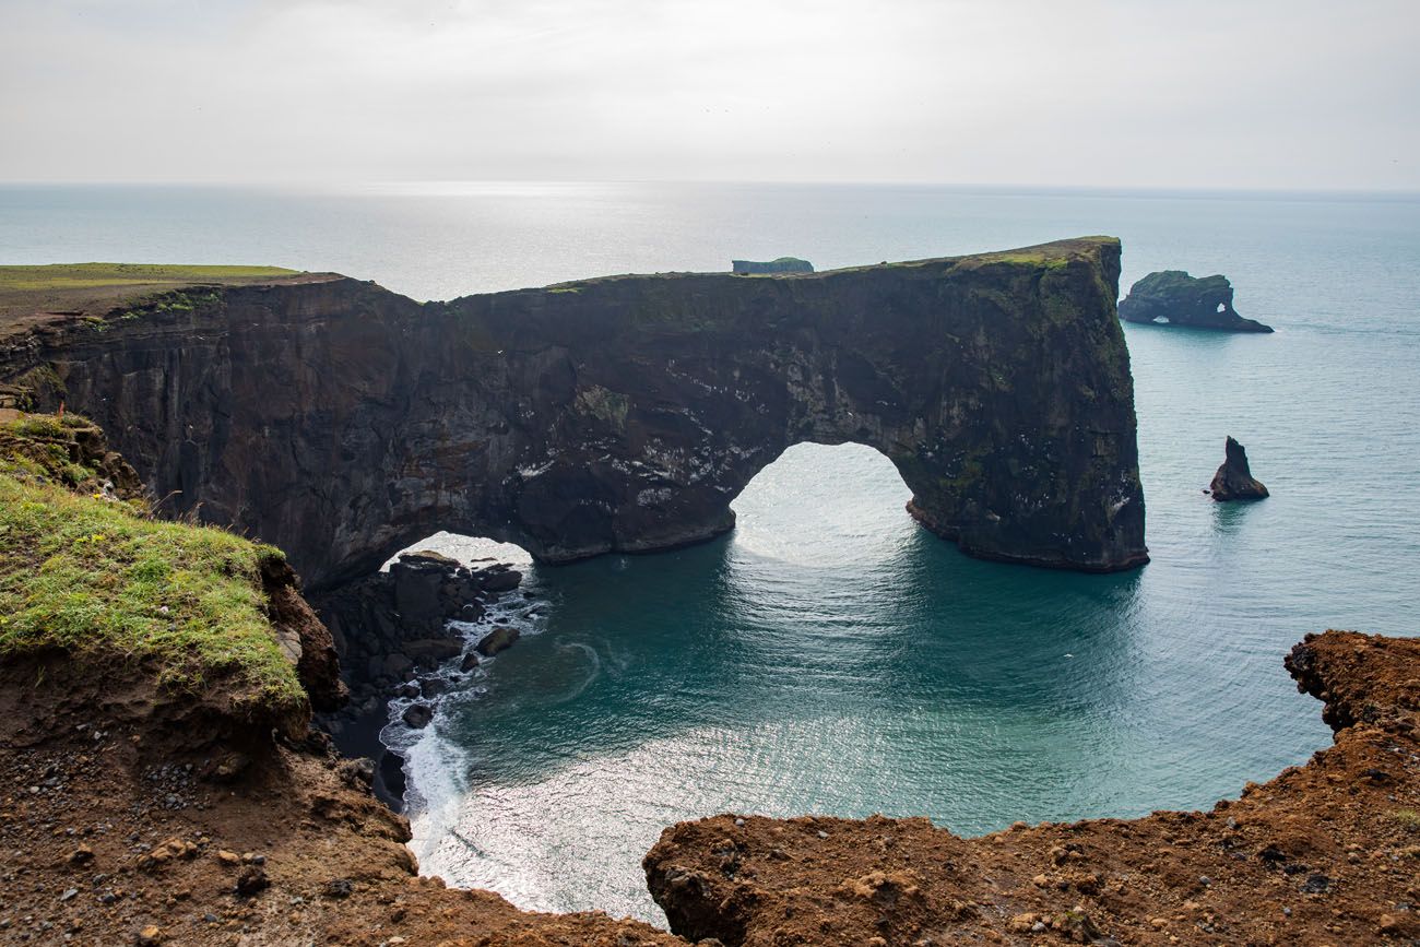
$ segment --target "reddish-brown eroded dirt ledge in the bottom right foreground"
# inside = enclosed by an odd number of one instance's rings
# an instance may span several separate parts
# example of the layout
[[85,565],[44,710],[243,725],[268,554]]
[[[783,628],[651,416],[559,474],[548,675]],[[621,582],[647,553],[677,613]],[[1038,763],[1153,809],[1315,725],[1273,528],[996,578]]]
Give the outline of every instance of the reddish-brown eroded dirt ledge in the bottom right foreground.
[[980,839],[721,815],[666,829],[650,890],[730,947],[1420,943],[1420,640],[1328,632],[1287,664],[1335,745],[1211,812]]

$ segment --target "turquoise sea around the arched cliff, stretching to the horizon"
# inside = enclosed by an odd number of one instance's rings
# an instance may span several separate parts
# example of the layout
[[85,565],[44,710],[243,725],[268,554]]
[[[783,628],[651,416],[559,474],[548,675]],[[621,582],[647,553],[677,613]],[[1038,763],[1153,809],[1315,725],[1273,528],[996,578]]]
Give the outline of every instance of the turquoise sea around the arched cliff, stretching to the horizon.
[[[1420,629],[1420,200],[469,186],[0,189],[0,261],[280,263],[417,297],[613,271],[822,267],[1113,233],[1125,285],[1221,271],[1275,335],[1126,327],[1153,562],[968,559],[865,447],[799,446],[676,552],[540,568],[548,605],[413,747],[429,873],[656,919],[639,859],[720,811],[1015,819],[1207,806],[1328,743],[1281,659]],[[1223,439],[1272,497],[1201,493]]]

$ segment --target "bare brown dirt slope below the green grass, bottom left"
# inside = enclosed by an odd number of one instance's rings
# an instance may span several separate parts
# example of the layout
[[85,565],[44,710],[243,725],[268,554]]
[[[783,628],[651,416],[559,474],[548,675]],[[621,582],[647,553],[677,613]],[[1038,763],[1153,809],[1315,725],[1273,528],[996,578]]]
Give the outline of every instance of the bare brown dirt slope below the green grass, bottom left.
[[62,655],[0,669],[0,943],[682,943],[417,877],[368,761],[231,720],[220,691]]

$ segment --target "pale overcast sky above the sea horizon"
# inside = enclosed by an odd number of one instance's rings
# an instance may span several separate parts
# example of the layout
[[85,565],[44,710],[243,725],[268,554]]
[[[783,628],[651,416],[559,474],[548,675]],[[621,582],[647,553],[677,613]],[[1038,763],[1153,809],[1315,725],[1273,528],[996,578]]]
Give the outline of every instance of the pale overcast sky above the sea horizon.
[[1420,190],[1416,0],[0,0],[0,180]]

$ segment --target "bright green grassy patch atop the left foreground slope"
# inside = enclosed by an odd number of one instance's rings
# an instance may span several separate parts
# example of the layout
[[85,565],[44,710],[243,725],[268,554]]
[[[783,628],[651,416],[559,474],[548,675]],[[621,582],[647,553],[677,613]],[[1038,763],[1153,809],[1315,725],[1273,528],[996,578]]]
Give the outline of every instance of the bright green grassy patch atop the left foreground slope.
[[[88,650],[153,660],[172,687],[234,674],[253,699],[300,699],[261,593],[260,565],[281,552],[105,498],[71,460],[84,426],[72,416],[0,425],[0,657]],[[78,493],[61,486],[75,483]]]

